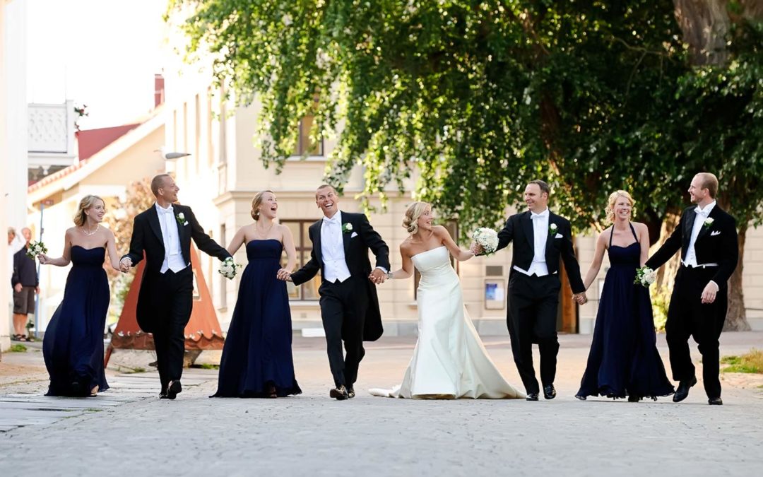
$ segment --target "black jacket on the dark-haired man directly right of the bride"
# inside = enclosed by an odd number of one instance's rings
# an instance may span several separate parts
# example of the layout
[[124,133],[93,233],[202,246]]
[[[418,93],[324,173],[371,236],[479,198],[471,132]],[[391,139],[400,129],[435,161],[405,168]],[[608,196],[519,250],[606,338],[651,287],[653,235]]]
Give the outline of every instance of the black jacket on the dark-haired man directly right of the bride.
[[[514,270],[514,266],[526,270],[530,269],[533,263],[535,233],[533,231],[533,219],[530,218],[530,215],[530,211],[513,214],[506,221],[503,230],[498,232],[498,248],[496,250],[506,247],[512,240],[514,243],[510,273],[517,272]],[[555,231],[550,230],[552,224],[556,226]],[[549,273],[559,272],[559,256],[565,262],[565,270],[572,292],[585,292],[583,280],[580,277],[578,259],[575,258],[575,248],[572,247],[570,222],[549,210],[549,237],[546,239],[546,267],[549,269]]]

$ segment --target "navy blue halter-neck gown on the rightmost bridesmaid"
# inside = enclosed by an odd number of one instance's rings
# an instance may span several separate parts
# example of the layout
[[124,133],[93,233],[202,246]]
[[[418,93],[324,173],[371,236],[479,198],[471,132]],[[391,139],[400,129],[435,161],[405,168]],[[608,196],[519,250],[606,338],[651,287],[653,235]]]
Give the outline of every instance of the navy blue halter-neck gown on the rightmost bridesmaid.
[[[636,230],[630,225],[633,237]],[[649,288],[634,283],[641,246],[612,245],[610,269],[596,315],[594,339],[577,396],[645,398],[671,395],[673,385],[665,375],[657,351]]]

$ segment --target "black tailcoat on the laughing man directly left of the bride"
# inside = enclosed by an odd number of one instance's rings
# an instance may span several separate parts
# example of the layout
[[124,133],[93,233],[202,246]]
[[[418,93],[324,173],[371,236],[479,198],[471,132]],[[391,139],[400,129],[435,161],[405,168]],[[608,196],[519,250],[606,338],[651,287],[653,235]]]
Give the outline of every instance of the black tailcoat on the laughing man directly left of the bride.
[[[371,227],[369,219],[365,217],[365,214],[341,212],[343,226],[344,224],[352,224],[353,226],[353,230],[343,232],[342,234],[344,259],[347,269],[349,269],[349,274],[353,278],[361,279],[369,287],[369,308],[365,314],[363,340],[375,341],[384,333],[384,327],[381,326],[381,312],[379,311],[376,287],[368,279],[372,272],[369,249],[376,256],[376,266],[389,270],[389,248],[376,230]],[[310,261],[305,263],[301,269],[291,274],[291,281],[295,285],[301,285],[311,280],[318,271],[320,271],[321,279],[323,279],[324,260],[321,256],[320,248],[320,227],[322,227],[323,222],[324,220],[321,218],[308,229],[310,241],[313,243],[313,250],[310,253]]]

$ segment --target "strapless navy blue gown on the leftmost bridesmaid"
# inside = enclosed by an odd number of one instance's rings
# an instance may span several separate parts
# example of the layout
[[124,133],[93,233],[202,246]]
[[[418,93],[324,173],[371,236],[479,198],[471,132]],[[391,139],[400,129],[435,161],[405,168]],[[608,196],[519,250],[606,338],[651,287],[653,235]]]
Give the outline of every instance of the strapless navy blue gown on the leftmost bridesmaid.
[[50,375],[48,396],[89,396],[108,389],[103,369],[103,331],[109,289],[103,262],[106,249],[72,247],[72,269],[63,301],[43,338],[43,357]]

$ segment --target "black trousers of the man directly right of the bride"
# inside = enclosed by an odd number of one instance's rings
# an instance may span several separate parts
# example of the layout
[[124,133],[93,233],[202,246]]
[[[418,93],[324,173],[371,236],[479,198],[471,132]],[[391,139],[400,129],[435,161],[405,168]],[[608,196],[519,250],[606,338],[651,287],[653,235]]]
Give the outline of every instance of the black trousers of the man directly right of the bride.
[[540,380],[554,383],[559,339],[556,336],[556,310],[559,307],[559,275],[526,276],[513,271],[509,277],[507,325],[514,363],[527,393],[539,392],[533,366],[533,343],[540,353]]

